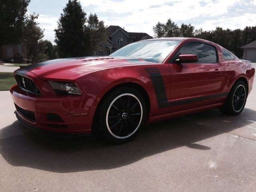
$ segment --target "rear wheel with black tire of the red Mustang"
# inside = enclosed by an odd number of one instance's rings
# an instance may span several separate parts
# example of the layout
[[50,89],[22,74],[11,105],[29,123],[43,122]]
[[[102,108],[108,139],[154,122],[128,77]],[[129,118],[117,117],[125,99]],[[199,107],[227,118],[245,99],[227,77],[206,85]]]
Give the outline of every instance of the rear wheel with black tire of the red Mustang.
[[244,110],[247,96],[247,85],[242,81],[236,82],[230,90],[224,106],[220,108],[220,111],[224,114],[239,115]]

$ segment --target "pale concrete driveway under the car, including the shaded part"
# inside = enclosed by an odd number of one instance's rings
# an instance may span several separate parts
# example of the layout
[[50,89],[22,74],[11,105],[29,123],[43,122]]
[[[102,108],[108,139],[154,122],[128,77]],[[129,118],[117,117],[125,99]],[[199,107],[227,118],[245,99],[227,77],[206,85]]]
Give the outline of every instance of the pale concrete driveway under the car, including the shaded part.
[[256,188],[256,82],[239,116],[218,110],[158,122],[113,146],[20,124],[0,92],[0,191],[243,192]]

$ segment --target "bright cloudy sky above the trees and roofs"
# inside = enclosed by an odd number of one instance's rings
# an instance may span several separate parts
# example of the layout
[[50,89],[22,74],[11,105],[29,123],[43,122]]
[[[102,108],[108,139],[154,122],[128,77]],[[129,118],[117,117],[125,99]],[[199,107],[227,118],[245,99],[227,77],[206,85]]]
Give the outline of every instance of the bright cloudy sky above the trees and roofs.
[[[68,0],[31,0],[28,13],[39,14],[44,39],[54,42],[54,29]],[[128,32],[153,36],[158,21],[171,18],[178,25],[191,23],[196,29],[243,29],[256,26],[256,0],[80,0],[89,15],[96,13],[105,25],[119,25]]]

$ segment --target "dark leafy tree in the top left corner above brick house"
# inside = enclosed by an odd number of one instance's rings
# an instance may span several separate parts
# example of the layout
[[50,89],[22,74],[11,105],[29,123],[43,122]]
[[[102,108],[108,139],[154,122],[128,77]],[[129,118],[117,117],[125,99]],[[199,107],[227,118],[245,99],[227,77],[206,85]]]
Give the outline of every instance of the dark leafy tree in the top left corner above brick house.
[[30,0],[3,0],[0,2],[0,46],[20,43],[28,20]]

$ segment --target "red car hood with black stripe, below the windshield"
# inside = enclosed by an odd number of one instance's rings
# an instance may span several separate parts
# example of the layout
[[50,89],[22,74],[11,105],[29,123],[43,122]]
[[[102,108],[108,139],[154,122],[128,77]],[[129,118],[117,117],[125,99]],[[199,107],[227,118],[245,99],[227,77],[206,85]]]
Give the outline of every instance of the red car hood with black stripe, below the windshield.
[[102,70],[104,68],[149,63],[152,62],[129,57],[80,57],[31,64],[19,70],[32,72],[41,79],[68,79],[72,76]]

